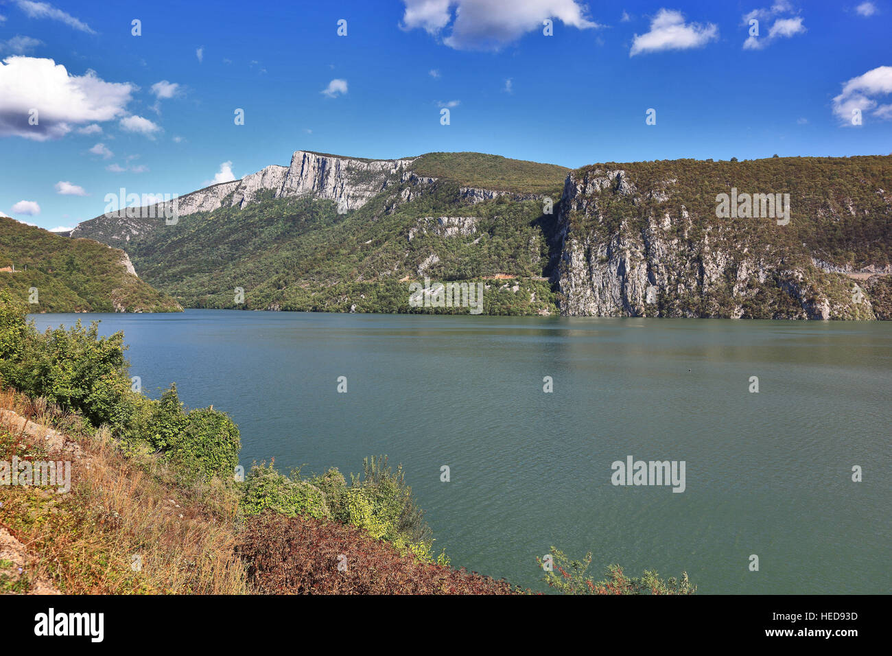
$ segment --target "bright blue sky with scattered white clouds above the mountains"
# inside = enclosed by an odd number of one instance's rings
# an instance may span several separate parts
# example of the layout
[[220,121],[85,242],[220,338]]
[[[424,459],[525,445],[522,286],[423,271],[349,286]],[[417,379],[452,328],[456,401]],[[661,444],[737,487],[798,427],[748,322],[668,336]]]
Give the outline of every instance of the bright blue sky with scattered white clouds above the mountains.
[[0,0],[0,17],[0,212],[44,228],[120,187],[181,195],[298,149],[892,153],[892,0]]

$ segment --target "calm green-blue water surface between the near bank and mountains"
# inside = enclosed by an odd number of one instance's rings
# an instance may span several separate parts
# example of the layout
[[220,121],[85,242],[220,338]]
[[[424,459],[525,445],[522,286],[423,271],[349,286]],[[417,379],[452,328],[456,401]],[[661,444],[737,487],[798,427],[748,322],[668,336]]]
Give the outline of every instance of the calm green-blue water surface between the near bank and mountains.
[[[227,411],[246,468],[402,462],[456,566],[541,589],[535,558],[555,545],[599,569],[686,569],[704,594],[892,589],[890,323],[34,317],[78,318],[124,331],[146,393],[176,381],[187,405]],[[611,485],[628,455],[686,461],[687,489]]]

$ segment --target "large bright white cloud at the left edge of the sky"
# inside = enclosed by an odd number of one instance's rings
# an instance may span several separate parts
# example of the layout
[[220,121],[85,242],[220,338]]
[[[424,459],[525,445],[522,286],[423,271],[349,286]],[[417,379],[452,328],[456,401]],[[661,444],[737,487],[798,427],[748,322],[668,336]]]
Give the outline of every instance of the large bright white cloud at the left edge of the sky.
[[[52,59],[7,57],[0,62],[0,137],[64,137],[72,125],[117,118],[135,90],[95,71],[70,75]],[[29,124],[31,109],[37,109],[37,125]]]

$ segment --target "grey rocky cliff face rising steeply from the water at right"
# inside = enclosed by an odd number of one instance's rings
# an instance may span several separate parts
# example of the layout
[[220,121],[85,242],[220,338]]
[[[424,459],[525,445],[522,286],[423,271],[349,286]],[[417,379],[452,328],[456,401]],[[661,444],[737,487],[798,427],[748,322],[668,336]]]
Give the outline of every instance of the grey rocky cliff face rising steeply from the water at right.
[[625,170],[567,176],[553,274],[563,315],[873,318],[845,276],[765,238],[771,226],[694,215],[672,192],[671,179],[639,189]]

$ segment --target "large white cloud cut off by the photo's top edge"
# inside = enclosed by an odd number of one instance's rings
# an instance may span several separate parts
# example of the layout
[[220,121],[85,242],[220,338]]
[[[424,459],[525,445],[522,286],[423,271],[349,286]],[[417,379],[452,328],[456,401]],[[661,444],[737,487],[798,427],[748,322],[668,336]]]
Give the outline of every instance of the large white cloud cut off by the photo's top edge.
[[[586,16],[576,0],[515,0],[507,8],[501,0],[403,0],[402,29],[425,29],[439,37],[450,21],[451,32],[442,42],[456,50],[499,50],[542,29],[545,19],[558,19],[577,29],[600,27]],[[455,20],[452,21],[452,8]]]

